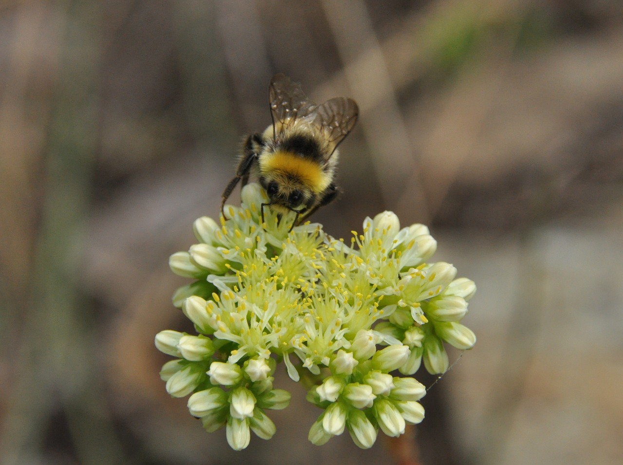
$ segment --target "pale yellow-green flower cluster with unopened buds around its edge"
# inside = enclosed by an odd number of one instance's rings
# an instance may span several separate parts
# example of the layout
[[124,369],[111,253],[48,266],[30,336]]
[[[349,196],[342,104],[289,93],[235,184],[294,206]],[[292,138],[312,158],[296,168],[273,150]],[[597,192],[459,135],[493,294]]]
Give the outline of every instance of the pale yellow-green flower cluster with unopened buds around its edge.
[[176,357],[161,371],[166,390],[192,393],[191,415],[207,431],[226,426],[227,441],[240,450],[250,431],[263,439],[275,433],[265,410],[290,401],[273,388],[283,361],[290,378],[313,384],[307,399],[323,409],[312,443],[345,429],[361,448],[379,429],[399,436],[424,418],[417,401],[426,390],[410,377],[421,361],[444,373],[444,342],[462,350],[475,343],[460,324],[475,285],[455,279],[450,264],[427,264],[437,246],[428,229],[401,229],[394,213],[366,218],[363,234],[353,232],[346,244],[319,224],[290,231],[294,214],[265,209],[261,224],[266,201],[259,185],[245,186],[242,206],[226,206],[227,221],[197,219],[199,244],[171,256],[173,272],[195,280],[173,302],[197,335],[156,335],[156,347]]

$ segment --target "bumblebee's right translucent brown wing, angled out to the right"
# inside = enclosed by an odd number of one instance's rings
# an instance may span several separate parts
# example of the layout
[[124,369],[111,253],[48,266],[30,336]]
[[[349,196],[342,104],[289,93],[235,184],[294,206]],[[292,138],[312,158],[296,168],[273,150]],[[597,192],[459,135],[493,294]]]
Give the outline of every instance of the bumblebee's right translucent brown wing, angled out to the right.
[[353,130],[358,116],[357,103],[345,97],[331,98],[316,108],[315,123],[323,131],[326,141],[331,144],[329,157]]

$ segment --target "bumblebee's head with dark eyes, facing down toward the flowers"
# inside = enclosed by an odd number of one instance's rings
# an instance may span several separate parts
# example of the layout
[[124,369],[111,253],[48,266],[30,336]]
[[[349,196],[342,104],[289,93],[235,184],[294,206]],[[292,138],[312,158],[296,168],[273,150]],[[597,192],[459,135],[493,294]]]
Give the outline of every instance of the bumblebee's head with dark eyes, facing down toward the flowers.
[[270,205],[283,213],[309,208],[315,199],[313,190],[294,176],[272,173],[260,176],[260,184],[269,196]]

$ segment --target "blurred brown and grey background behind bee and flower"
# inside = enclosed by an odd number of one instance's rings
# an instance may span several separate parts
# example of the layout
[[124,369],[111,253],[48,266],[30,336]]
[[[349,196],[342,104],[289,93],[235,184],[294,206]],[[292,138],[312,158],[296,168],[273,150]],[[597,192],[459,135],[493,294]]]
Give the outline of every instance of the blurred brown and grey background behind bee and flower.
[[[235,453],[159,379],[154,335],[188,329],[168,257],[276,72],[359,103],[313,219],[391,209],[478,285],[407,447],[313,446],[281,373],[277,434]],[[0,463],[622,463],[622,149],[619,0],[2,2]]]

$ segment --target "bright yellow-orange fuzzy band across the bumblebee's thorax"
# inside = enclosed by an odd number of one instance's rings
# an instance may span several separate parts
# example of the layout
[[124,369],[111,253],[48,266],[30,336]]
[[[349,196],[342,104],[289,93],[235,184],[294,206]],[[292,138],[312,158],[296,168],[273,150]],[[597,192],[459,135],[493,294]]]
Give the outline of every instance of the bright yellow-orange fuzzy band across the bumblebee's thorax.
[[297,176],[316,193],[321,193],[331,183],[330,177],[326,175],[318,163],[295,153],[276,151],[265,154],[260,156],[259,165],[262,175],[277,171],[283,175]]

